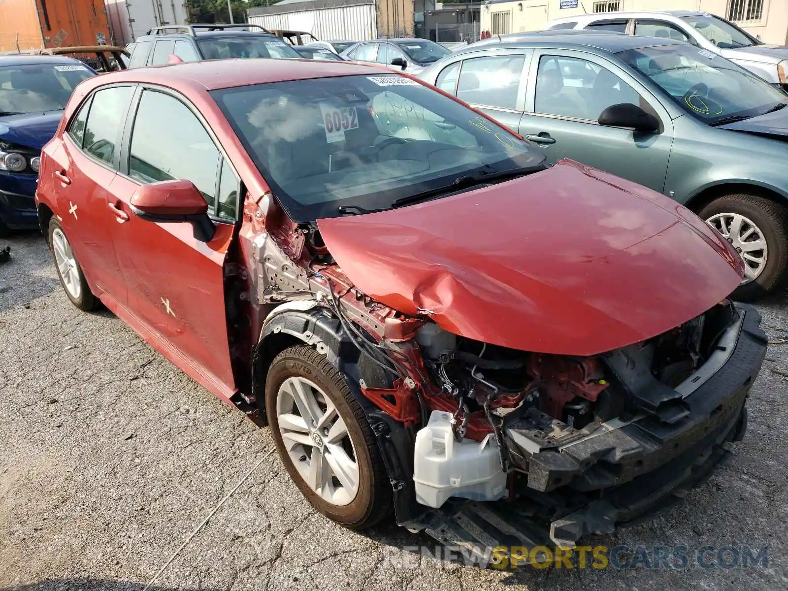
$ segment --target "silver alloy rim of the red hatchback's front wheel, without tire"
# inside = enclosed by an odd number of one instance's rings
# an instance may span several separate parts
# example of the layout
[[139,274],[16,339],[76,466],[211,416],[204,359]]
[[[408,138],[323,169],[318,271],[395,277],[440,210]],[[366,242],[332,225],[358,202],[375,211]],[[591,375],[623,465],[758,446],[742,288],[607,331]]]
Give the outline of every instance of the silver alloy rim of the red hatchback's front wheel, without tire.
[[289,459],[310,489],[330,504],[350,504],[359,492],[359,463],[329,396],[304,377],[288,377],[277,393],[277,422]]

